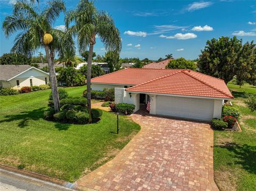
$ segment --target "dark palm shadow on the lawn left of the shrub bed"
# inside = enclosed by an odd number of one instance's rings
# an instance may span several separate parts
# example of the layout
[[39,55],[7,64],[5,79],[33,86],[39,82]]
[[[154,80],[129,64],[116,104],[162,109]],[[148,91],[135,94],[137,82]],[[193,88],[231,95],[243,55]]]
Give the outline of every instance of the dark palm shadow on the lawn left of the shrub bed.
[[21,120],[18,123],[18,127],[24,128],[24,127],[28,126],[29,120],[37,121],[39,119],[42,119],[43,116],[44,116],[44,107],[41,107],[41,108],[39,108],[37,110],[33,110],[33,111],[23,111],[23,112],[20,112],[19,114],[15,114],[15,115],[6,115],[4,117],[6,119],[1,120],[0,123]]

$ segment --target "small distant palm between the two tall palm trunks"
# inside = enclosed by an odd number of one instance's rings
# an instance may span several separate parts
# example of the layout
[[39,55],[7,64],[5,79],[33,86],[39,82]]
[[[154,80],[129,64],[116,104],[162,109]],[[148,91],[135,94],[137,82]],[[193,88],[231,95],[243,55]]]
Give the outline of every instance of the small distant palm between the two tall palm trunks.
[[71,52],[70,49],[66,49],[63,51],[63,53],[60,54],[60,57],[57,61],[59,63],[65,64],[66,67],[76,68],[79,63],[83,62],[83,59]]

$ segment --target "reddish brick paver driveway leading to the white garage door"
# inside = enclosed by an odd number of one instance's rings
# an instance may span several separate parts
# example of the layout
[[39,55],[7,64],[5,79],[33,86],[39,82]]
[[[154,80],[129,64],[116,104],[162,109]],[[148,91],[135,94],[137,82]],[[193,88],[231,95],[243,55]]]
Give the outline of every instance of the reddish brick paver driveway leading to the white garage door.
[[207,123],[132,114],[141,130],[111,161],[79,179],[96,190],[218,190]]

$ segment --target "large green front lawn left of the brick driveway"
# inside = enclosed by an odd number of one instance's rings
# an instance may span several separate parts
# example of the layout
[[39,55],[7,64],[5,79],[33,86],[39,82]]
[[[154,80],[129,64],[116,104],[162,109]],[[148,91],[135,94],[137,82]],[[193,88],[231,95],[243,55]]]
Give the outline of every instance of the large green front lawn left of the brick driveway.
[[[66,88],[81,96],[85,87]],[[103,111],[98,123],[78,125],[45,121],[50,90],[0,96],[0,163],[76,181],[83,174],[113,158],[140,127],[130,117]]]

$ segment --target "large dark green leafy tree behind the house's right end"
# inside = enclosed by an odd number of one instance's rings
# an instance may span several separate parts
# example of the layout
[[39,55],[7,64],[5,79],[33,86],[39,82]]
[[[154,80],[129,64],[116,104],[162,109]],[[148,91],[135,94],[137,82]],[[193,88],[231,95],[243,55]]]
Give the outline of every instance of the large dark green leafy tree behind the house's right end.
[[206,46],[199,55],[199,70],[226,84],[237,77],[238,85],[243,81],[253,84],[255,81],[255,44],[242,44],[236,37],[220,37],[207,40]]

